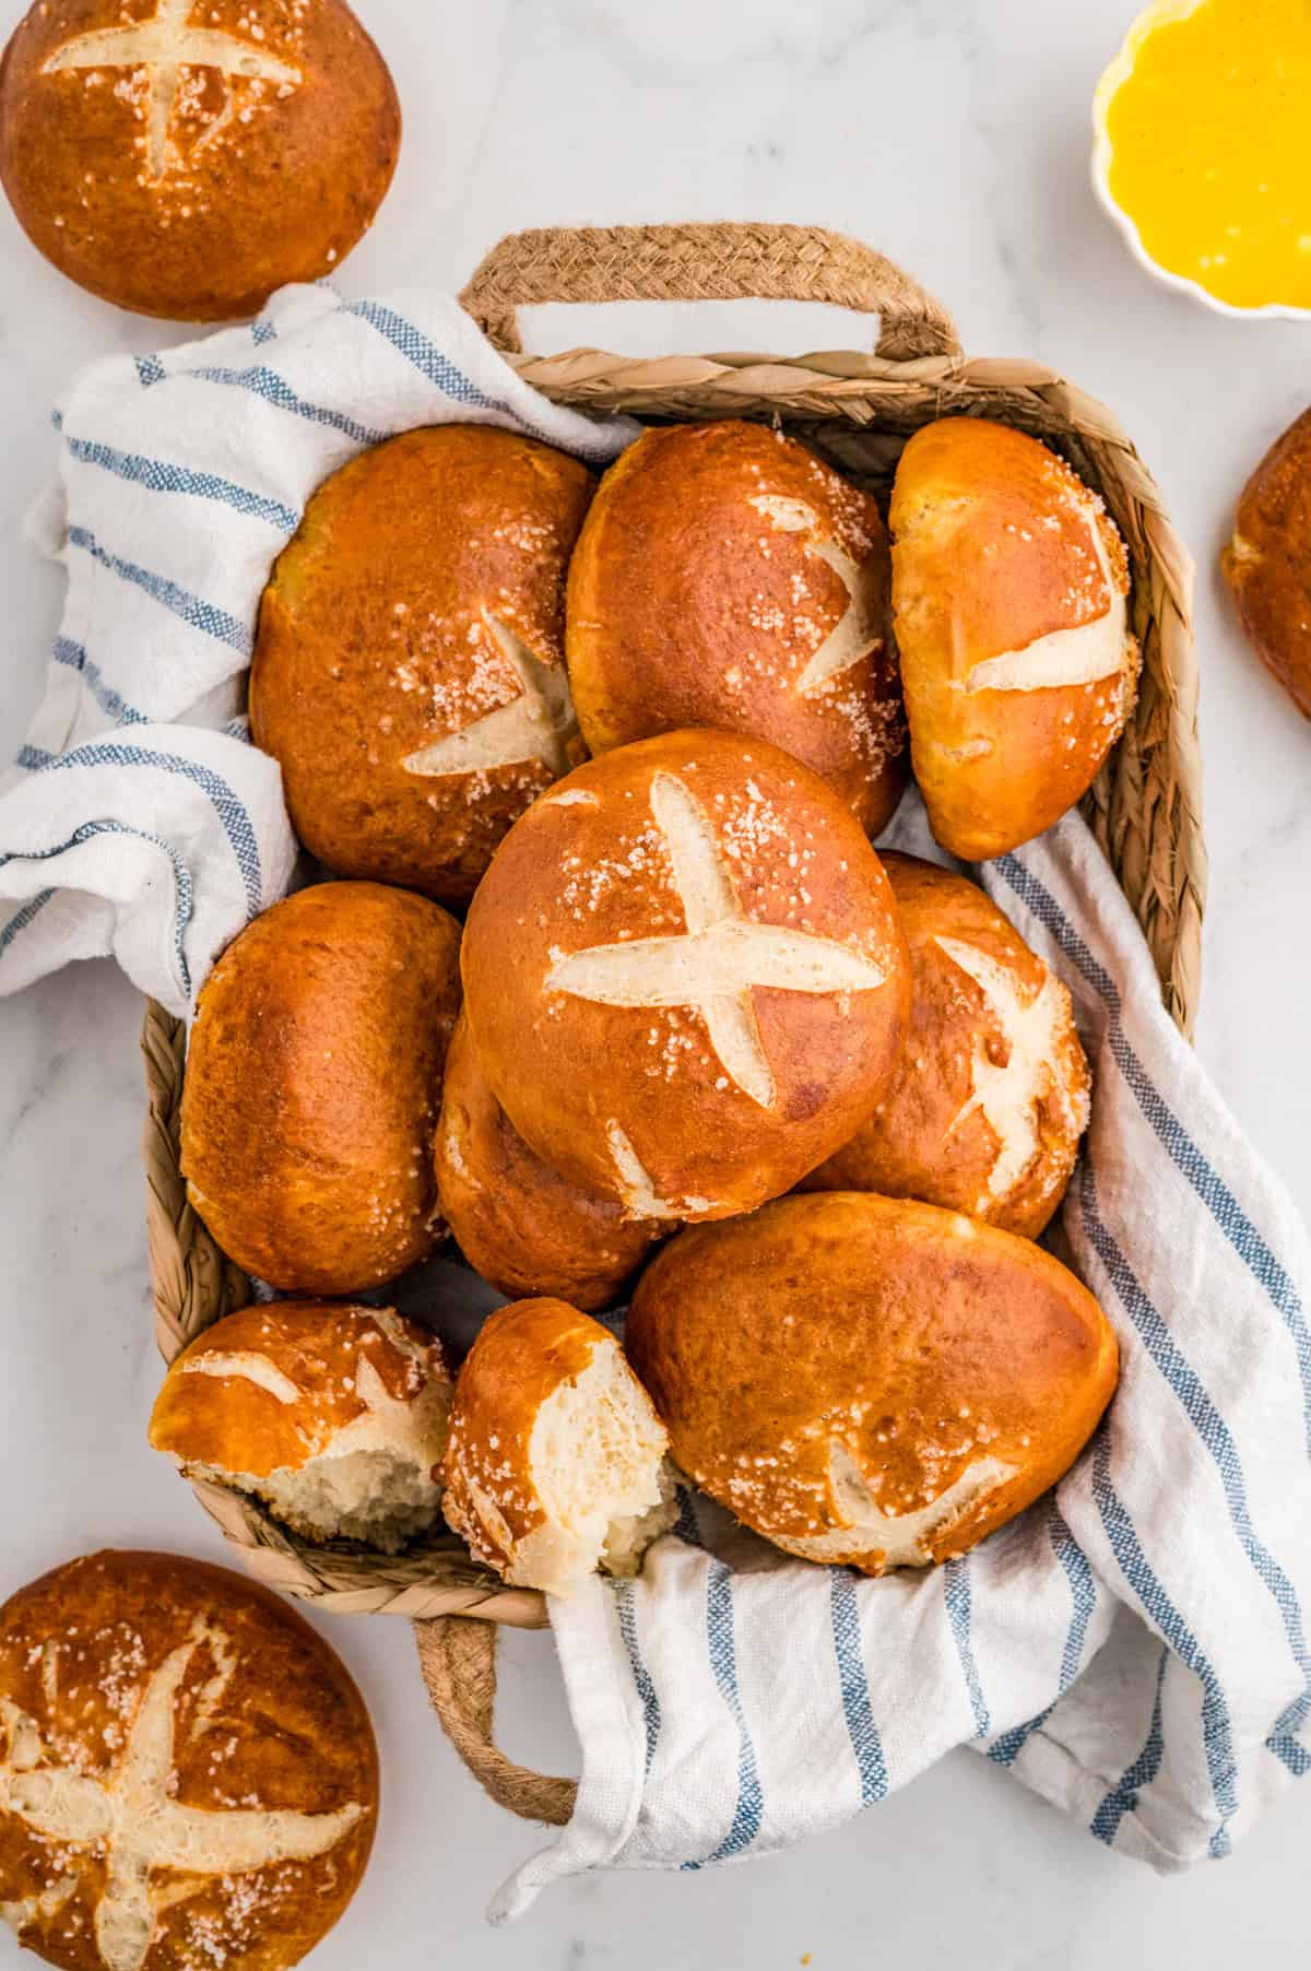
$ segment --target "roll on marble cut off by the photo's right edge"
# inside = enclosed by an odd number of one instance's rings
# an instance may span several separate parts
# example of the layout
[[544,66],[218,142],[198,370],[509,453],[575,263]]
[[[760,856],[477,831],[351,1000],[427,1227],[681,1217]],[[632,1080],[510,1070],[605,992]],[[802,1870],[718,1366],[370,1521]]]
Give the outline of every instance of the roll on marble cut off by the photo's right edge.
[[1252,648],[1311,719],[1311,410],[1242,489],[1222,566]]

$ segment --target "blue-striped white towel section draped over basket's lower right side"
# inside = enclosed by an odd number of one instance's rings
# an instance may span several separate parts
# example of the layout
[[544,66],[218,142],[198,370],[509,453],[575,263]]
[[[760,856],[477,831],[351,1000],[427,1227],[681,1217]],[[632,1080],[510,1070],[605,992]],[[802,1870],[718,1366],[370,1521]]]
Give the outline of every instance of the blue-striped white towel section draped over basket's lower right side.
[[[917,810],[897,846],[923,851]],[[1303,1226],[1161,1011],[1082,820],[980,875],[1094,1066],[1063,1236],[1120,1336],[1112,1409],[1055,1494],[932,1573],[791,1561],[684,1496],[639,1581],[552,1602],[578,1809],[495,1920],[586,1869],[769,1855],[958,1744],[1159,1870],[1228,1855],[1311,1768]]]

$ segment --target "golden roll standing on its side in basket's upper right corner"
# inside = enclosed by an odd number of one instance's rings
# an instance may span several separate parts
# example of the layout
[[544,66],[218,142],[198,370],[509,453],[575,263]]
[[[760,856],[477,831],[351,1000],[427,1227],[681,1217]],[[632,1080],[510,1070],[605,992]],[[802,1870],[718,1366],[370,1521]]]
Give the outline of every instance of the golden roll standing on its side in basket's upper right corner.
[[1065,459],[984,418],[901,453],[893,619],[936,840],[1003,855],[1080,800],[1138,688],[1124,542]]

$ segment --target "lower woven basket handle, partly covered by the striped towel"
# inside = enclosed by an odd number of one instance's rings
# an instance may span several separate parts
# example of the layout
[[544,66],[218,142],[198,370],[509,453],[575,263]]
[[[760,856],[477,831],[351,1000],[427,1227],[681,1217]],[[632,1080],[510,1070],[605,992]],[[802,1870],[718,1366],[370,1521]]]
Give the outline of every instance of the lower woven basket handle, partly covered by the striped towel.
[[491,1736],[497,1701],[497,1624],[477,1616],[448,1614],[416,1622],[414,1640],[432,1709],[479,1786],[520,1821],[564,1827],[574,1813],[578,1780],[552,1780],[528,1772],[526,1766],[509,1760]]

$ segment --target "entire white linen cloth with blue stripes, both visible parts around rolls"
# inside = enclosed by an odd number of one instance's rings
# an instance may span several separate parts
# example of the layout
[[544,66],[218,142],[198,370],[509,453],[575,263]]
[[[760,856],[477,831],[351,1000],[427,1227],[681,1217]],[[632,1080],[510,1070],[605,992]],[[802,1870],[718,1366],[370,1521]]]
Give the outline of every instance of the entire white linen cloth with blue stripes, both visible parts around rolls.
[[[187,1013],[282,895],[278,771],[239,719],[268,568],[327,473],[453,418],[595,463],[635,432],[546,404],[424,296],[290,288],[254,327],[75,378],[37,516],[67,611],[0,794],[0,991],[112,952]],[[499,1918],[584,1869],[765,1855],[954,1744],[1157,1869],[1228,1853],[1311,1766],[1305,1234],[1165,1019],[1078,816],[984,881],[1094,1062],[1065,1236],[1124,1350],[1108,1421],[1053,1498],[934,1573],[794,1563],[688,1498],[639,1581],[556,1602],[584,1780]]]

